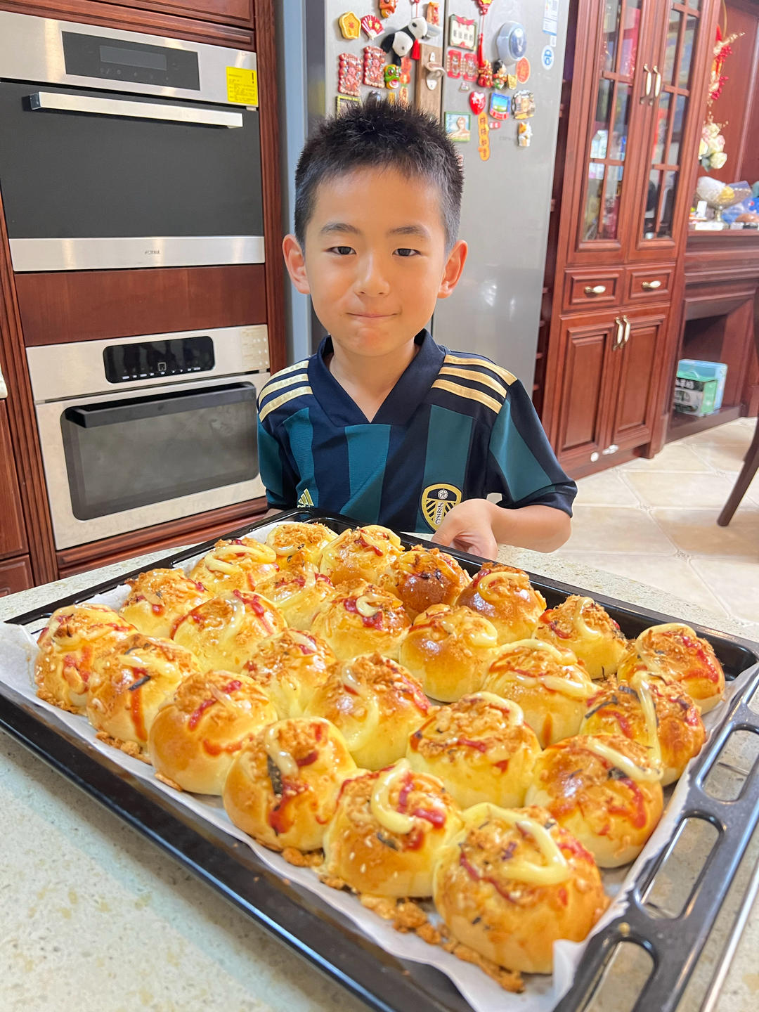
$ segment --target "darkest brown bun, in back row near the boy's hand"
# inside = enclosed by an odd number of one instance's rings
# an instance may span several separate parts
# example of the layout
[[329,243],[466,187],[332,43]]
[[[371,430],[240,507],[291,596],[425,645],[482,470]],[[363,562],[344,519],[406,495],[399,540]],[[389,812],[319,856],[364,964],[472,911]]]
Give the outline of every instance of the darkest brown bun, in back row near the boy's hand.
[[416,618],[433,604],[454,604],[469,582],[469,575],[451,556],[416,544],[391,564],[381,586],[400,598]]

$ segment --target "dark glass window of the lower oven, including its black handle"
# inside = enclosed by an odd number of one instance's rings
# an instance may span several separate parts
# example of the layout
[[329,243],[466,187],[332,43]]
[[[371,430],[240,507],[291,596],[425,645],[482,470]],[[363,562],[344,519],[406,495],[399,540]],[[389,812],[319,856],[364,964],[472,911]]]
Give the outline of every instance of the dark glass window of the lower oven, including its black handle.
[[79,520],[258,475],[252,384],[67,408],[61,416]]

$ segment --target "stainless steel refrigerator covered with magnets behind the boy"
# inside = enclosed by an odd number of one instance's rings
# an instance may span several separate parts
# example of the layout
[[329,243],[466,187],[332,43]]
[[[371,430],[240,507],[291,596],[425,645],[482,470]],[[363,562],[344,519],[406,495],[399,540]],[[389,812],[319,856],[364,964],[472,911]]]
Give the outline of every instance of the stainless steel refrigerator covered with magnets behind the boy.
[[[437,31],[433,27],[423,39],[442,49],[444,72],[437,78],[440,112],[443,122],[449,114],[449,130],[463,160],[459,235],[470,247],[458,287],[438,303],[432,334],[447,347],[487,355],[516,373],[528,391],[540,315],[568,5],[569,0],[492,0],[483,15],[476,0],[445,0],[436,5]],[[373,39],[364,31],[358,38],[345,38],[338,23],[348,11],[359,19],[367,14],[380,17],[380,5],[372,0],[353,5],[347,0],[282,0],[277,8],[284,227],[289,230],[298,156],[310,125],[335,111],[340,54],[354,54],[362,60],[364,47],[377,45],[409,25],[412,17],[423,16],[427,4],[398,0],[395,12],[381,18],[384,30]],[[453,26],[451,17],[461,20]],[[499,91],[467,80],[461,68],[466,64],[472,76],[481,31],[480,55],[494,64],[500,53],[505,58],[502,74],[511,75],[508,83],[513,87]],[[473,33],[474,50],[468,48]],[[449,50],[458,54],[450,64]],[[412,101],[419,68],[420,61],[412,60]],[[459,76],[450,76],[456,69]],[[372,90],[361,85],[360,96]],[[473,92],[485,93],[487,144],[478,135]],[[493,94],[502,97],[491,115]],[[515,95],[519,114],[529,113],[533,106],[531,115],[515,117]],[[504,113],[507,117],[500,118]],[[461,116],[469,120],[460,123]],[[528,146],[518,142],[520,122],[529,128]],[[466,124],[469,140],[465,139]],[[289,354],[294,360],[316,347],[322,332],[308,301],[291,289],[287,313]]]

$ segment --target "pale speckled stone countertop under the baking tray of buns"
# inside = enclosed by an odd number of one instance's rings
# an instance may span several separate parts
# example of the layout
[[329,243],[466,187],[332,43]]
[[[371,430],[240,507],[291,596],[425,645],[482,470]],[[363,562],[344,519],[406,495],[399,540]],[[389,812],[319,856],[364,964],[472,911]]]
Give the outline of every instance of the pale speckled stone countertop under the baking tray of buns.
[[[178,550],[175,550],[178,551]],[[0,620],[138,567],[154,553],[0,599]],[[499,560],[759,641],[759,622],[715,618],[663,591],[526,550]],[[0,735],[0,1007],[3,1012],[359,1012],[323,977],[111,812]],[[730,910],[759,852],[752,841]],[[732,902],[731,902],[732,901]],[[732,918],[718,921],[680,1004],[695,1010]],[[722,925],[722,921],[727,924]],[[719,936],[719,937],[718,937]],[[714,1012],[759,1002],[759,901]],[[612,1005],[604,1004],[611,1010]],[[624,1005],[628,1008],[628,1005]]]

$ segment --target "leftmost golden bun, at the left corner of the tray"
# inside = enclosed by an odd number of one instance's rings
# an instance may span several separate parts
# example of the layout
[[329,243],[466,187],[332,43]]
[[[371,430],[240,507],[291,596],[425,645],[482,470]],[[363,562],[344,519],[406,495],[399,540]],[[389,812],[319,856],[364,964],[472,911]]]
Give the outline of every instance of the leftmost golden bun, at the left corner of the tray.
[[83,713],[94,666],[136,631],[104,604],[70,604],[54,611],[36,642],[36,694],[61,709]]

